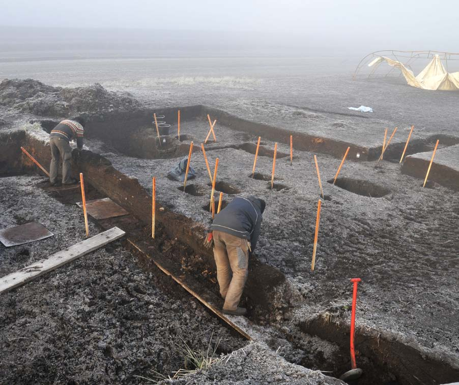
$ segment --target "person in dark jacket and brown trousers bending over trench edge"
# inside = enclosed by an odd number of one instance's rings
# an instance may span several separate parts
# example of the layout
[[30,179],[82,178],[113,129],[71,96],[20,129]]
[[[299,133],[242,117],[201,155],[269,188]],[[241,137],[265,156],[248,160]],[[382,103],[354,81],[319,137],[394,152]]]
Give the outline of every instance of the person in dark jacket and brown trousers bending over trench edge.
[[238,304],[247,280],[249,252],[253,252],[260,236],[265,206],[263,199],[236,197],[215,216],[204,242],[208,248],[214,246],[225,314],[243,315],[246,312]]

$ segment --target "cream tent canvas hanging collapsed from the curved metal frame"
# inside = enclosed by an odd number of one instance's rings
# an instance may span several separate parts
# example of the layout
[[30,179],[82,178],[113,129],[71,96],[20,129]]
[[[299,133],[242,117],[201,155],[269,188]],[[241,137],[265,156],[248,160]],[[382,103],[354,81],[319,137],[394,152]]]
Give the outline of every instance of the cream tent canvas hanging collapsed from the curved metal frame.
[[390,59],[385,56],[379,56],[372,60],[368,67],[379,66],[383,61],[386,61],[389,66],[398,68],[407,83],[413,87],[422,89],[440,89],[444,91],[459,90],[459,72],[449,74],[446,72],[438,55],[435,55],[431,62],[419,73],[414,76],[413,71],[406,68],[403,63]]

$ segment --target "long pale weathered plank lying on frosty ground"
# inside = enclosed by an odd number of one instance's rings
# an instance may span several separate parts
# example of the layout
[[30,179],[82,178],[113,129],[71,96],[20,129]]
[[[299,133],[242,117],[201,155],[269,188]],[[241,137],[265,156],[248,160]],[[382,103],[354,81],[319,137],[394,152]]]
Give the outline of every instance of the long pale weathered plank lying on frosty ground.
[[62,265],[72,262],[80,256],[88,254],[91,251],[110,243],[111,241],[121,238],[125,234],[126,233],[123,230],[114,227],[110,230],[104,231],[103,233],[97,234],[92,238],[85,239],[84,241],[76,243],[69,248],[59,251],[58,253],[51,255],[48,259],[38,261],[16,271],[15,273],[6,275],[0,278],[0,294],[29,282],[48,271],[57,269]]

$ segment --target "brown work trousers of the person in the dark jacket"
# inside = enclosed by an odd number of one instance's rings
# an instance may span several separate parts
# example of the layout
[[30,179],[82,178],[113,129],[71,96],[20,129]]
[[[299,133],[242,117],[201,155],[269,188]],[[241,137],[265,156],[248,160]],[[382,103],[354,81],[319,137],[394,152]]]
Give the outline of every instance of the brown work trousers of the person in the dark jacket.
[[247,280],[249,242],[244,238],[213,231],[214,258],[223,309],[236,310]]

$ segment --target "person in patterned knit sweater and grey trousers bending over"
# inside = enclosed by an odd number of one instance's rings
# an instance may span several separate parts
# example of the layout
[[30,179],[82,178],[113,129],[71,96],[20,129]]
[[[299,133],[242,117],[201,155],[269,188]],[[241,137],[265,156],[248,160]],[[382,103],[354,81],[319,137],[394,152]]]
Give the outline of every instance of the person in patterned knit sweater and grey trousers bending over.
[[51,165],[49,166],[49,181],[52,185],[58,184],[59,159],[62,158],[62,184],[76,183],[70,176],[72,148],[69,142],[76,139],[78,150],[83,148],[84,120],[80,117],[65,119],[54,127],[49,135],[51,147]]

